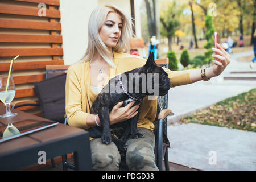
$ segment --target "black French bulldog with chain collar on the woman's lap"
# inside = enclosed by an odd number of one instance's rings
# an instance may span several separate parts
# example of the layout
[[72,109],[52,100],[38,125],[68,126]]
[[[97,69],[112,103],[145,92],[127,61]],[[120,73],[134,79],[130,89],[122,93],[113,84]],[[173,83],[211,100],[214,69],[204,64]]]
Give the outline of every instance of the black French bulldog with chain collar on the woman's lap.
[[[133,77],[129,77],[129,74]],[[144,77],[142,77],[143,74]],[[135,82],[136,79],[137,84]],[[137,105],[141,104],[145,96],[153,96],[157,94],[152,92],[149,88],[154,88],[154,91],[158,91],[158,96],[164,96],[168,93],[170,86],[170,79],[168,78],[167,73],[163,68],[155,64],[154,53],[150,52],[150,56],[143,67],[115,76],[109,80],[108,84],[98,94],[90,108],[90,113],[98,114],[98,117],[100,118],[100,127],[91,127],[89,129],[90,137],[101,138],[102,143],[104,144],[110,144],[110,142],[113,141],[120,154],[125,155],[127,149],[126,140],[129,137],[133,139],[143,138],[143,135],[138,133],[137,130],[140,108],[138,108],[138,113],[135,117],[130,118],[127,121],[115,123],[111,126],[109,121],[110,111],[116,104],[118,104],[118,102],[123,101],[121,107],[124,107],[129,104],[129,102],[135,100],[134,105]]]

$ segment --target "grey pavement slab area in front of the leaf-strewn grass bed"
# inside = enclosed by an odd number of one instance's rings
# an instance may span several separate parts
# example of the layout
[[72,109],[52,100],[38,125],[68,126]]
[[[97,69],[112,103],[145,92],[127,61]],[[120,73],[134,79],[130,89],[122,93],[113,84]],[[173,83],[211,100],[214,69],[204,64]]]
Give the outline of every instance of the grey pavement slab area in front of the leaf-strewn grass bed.
[[203,170],[256,170],[256,133],[188,123],[168,127],[169,160]]

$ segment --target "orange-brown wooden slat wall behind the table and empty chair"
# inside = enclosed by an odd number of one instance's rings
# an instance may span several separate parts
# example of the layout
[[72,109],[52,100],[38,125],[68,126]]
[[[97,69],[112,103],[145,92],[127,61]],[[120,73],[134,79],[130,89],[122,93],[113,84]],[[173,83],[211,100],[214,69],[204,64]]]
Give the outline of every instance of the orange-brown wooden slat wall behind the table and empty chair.
[[[45,16],[39,16],[39,3],[45,4]],[[20,56],[13,68],[14,103],[38,102],[32,83],[46,78],[46,65],[64,65],[59,6],[59,0],[16,0],[10,4],[0,1],[0,75],[8,73],[12,57]],[[24,34],[24,30],[35,33]],[[38,114],[40,110],[31,112]]]

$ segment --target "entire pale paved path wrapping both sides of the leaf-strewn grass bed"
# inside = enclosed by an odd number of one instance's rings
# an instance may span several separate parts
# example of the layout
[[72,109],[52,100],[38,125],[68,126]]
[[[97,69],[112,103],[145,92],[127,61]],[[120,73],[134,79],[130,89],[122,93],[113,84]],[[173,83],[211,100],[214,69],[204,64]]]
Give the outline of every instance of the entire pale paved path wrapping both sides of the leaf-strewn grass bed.
[[[231,71],[251,71],[249,63],[237,61],[253,51],[232,55],[232,63],[221,76],[210,81],[178,86],[169,91],[168,108],[175,116],[168,123],[177,123],[184,115],[195,113],[225,98],[256,88],[256,81],[224,80]],[[255,71],[255,68],[253,69]],[[168,126],[171,162],[203,170],[255,170],[256,133],[199,124]],[[217,152],[217,164],[210,165],[209,151]],[[253,154],[253,155],[249,155]],[[247,156],[247,158],[246,158]],[[246,158],[246,159],[245,159]]]

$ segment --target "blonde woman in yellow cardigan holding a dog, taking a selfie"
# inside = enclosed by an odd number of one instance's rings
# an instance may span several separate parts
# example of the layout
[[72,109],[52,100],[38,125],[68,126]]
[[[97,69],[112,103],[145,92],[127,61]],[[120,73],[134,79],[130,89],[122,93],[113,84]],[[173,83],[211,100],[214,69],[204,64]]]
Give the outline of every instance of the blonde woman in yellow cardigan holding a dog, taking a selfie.
[[[88,24],[88,47],[84,57],[73,64],[67,72],[66,113],[70,126],[88,130],[100,124],[97,115],[90,114],[90,106],[108,81],[119,73],[142,67],[146,60],[129,55],[129,39],[132,36],[131,18],[113,5],[97,7],[91,14]],[[213,49],[218,55],[213,67],[201,70],[171,71],[168,73],[171,86],[191,84],[218,76],[230,63],[229,54],[220,45]],[[110,125],[134,117],[138,106],[130,102],[122,103],[110,111]],[[146,96],[141,104],[137,129],[144,138],[127,140],[126,163],[130,170],[158,170],[154,159],[155,136],[153,133],[157,100]],[[118,170],[121,156],[114,142],[106,145],[100,138],[90,141],[92,168],[94,170]]]

